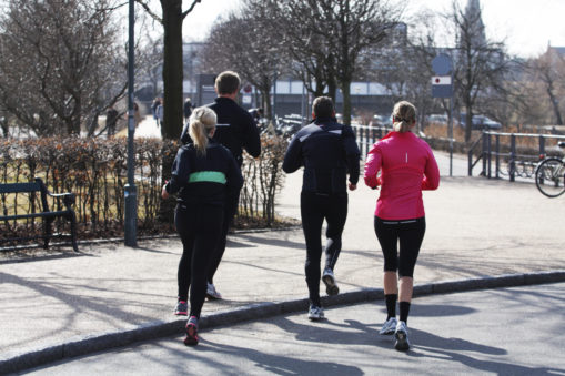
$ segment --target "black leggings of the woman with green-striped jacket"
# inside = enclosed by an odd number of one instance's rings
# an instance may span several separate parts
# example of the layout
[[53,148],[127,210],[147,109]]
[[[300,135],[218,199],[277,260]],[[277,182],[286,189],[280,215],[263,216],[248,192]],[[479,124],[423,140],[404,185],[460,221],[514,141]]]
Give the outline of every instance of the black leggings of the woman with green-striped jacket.
[[190,315],[200,317],[206,296],[206,276],[222,233],[223,206],[178,204],[174,225],[182,241],[179,263],[179,299],[188,301]]

